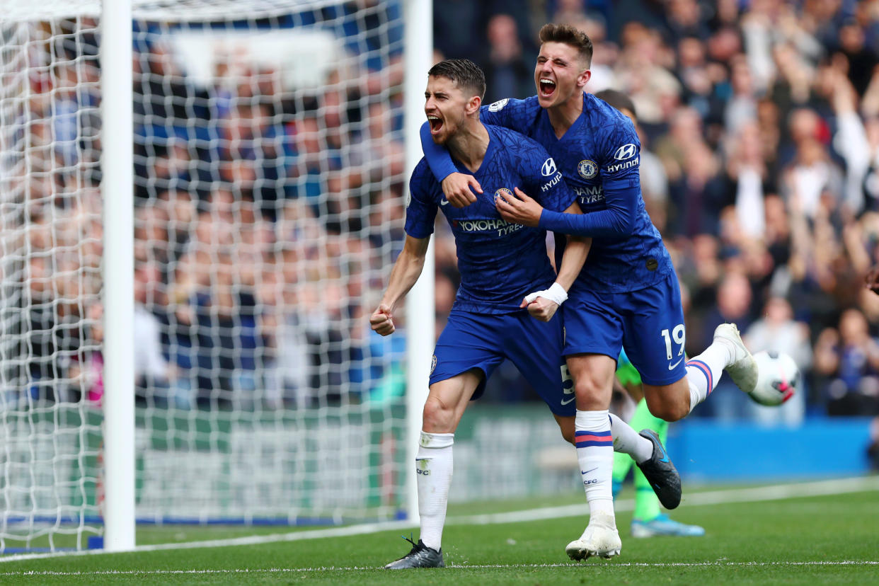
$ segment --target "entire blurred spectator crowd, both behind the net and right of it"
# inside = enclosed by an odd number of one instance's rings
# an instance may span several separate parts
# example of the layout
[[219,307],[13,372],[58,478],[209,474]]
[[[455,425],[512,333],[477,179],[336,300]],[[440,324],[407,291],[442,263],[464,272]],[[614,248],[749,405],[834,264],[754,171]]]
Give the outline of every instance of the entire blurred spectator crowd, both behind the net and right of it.
[[[366,320],[403,240],[399,11],[361,0],[291,17],[352,55],[316,90],[232,51],[212,83],[194,83],[169,25],[135,27],[142,401],[304,407],[403,392],[403,336],[376,339]],[[644,199],[678,268],[688,351],[737,322],[753,351],[788,352],[803,371],[781,410],[723,392],[700,413],[879,413],[879,296],[862,284],[879,260],[879,2],[447,0],[434,2],[436,56],[477,61],[486,103],[524,98],[548,21],[592,37],[587,90],[635,102]],[[18,237],[5,246],[28,252],[26,367],[48,386],[32,394],[99,400],[94,22],[44,29],[53,40],[26,57],[54,61],[32,69],[20,148],[0,162],[4,204],[25,202],[4,212],[4,238]],[[439,331],[458,283],[442,222],[436,244]],[[64,327],[77,320],[89,327]],[[486,399],[534,396],[501,370]]]

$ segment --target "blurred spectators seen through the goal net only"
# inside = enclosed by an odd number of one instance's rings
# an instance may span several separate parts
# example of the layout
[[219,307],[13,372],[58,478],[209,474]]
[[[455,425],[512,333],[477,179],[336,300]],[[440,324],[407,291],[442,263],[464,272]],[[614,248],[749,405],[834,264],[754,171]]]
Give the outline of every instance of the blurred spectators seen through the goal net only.
[[[178,33],[297,26],[344,47],[313,88],[291,87],[282,61],[222,36],[210,47],[211,82],[196,83],[174,43]],[[100,128],[97,23],[25,23],[10,41],[14,98],[0,102],[2,398],[99,404],[98,163],[101,132],[112,130]],[[367,318],[403,244],[401,55],[395,3],[219,25],[134,23],[139,403],[399,400],[404,339],[371,336]]]

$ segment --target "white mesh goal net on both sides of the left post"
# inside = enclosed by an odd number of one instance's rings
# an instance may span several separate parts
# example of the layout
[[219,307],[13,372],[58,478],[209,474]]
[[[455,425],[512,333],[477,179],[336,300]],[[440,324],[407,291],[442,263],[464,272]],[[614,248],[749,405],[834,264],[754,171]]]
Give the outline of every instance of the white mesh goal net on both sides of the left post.
[[[0,552],[80,549],[113,79],[97,2],[0,7]],[[138,523],[401,514],[405,329],[368,315],[403,242],[402,11],[135,2]]]

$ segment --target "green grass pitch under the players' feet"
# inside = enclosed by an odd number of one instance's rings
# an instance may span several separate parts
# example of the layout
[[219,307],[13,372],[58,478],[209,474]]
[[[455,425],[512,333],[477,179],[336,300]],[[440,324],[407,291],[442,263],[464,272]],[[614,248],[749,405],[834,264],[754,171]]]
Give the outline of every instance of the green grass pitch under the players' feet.
[[[544,499],[450,506],[452,522],[443,536],[448,566],[444,569],[380,569],[408,551],[401,531],[384,531],[251,546],[6,561],[0,563],[0,583],[879,584],[877,486],[874,481],[847,494],[769,496],[774,500],[743,503],[699,504],[711,498],[700,501],[698,492],[691,493],[691,503],[685,495],[674,518],[705,526],[708,535],[702,538],[632,539],[631,514],[623,511],[617,517],[622,554],[611,561],[576,563],[565,556],[564,546],[583,531],[584,515],[496,525],[467,522],[476,514],[582,503],[570,496],[552,503]],[[627,496],[630,493],[622,495],[620,509],[630,510]],[[139,529],[138,542],[272,532],[288,530]]]

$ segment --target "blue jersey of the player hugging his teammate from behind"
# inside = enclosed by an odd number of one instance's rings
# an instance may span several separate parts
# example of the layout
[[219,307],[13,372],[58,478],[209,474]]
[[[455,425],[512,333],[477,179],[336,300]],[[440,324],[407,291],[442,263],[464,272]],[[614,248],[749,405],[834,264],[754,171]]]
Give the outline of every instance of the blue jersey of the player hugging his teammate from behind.
[[[631,200],[624,202],[630,216],[626,234],[594,235],[589,257],[572,288],[636,291],[665,279],[673,270],[662,237],[644,209],[638,175],[641,141],[625,115],[592,94],[584,94],[583,113],[560,139],[536,96],[485,105],[481,119],[541,143],[584,213],[608,209],[606,189],[630,194],[627,197]],[[620,206],[621,202],[611,205]],[[556,239],[556,244],[556,254],[561,254],[563,239]]]

